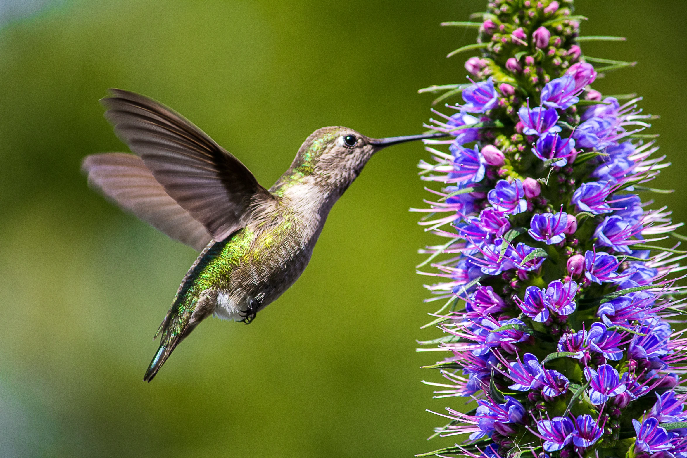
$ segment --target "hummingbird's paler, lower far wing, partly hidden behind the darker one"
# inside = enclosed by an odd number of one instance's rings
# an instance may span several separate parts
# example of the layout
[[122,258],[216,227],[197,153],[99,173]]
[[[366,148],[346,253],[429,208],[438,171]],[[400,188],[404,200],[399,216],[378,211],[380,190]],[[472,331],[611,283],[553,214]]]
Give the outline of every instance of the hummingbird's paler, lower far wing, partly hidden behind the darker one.
[[91,187],[170,238],[197,251],[212,240],[210,232],[157,183],[140,157],[123,152],[93,154],[84,159],[81,170],[88,174]]

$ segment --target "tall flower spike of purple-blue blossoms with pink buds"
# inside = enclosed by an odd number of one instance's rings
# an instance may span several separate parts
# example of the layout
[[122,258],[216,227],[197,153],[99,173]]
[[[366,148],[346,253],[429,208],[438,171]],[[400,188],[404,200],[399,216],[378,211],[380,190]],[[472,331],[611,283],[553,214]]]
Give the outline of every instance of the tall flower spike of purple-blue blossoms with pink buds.
[[687,458],[687,427],[665,425],[687,422],[687,339],[666,320],[684,307],[683,256],[648,245],[680,225],[638,194],[666,164],[634,135],[650,127],[640,99],[589,86],[570,3],[489,3],[475,81],[458,113],[435,112],[449,139],[426,141],[423,179],[447,185],[418,210],[447,239],[423,251],[447,301],[428,344],[449,352],[449,383],[427,383],[477,400],[438,433],[480,441],[442,453]]

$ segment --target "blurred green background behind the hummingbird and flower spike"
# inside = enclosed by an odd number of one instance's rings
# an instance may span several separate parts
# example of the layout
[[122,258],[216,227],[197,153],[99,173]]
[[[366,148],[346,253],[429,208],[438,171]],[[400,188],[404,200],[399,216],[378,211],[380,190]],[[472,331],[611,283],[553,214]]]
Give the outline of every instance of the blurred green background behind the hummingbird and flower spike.
[[[0,456],[409,457],[442,419],[414,352],[435,304],[416,249],[431,241],[418,144],[385,150],[333,209],[299,282],[250,326],[207,320],[150,385],[151,341],[194,260],[87,189],[92,152],[126,150],[108,87],[190,118],[264,185],[321,126],[419,133],[430,84],[462,82],[474,31],[439,27],[480,0],[0,1]],[[595,87],[637,91],[674,166],[687,219],[681,1],[578,1],[595,57],[638,60]]]

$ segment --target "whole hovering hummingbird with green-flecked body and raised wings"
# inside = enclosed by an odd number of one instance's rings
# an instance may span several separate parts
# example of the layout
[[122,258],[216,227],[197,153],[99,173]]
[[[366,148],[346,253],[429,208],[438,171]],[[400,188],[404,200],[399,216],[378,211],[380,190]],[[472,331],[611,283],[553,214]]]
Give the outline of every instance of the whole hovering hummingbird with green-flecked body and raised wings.
[[110,89],[100,100],[134,153],[92,154],[89,186],[174,240],[200,251],[153,339],[144,381],[201,321],[251,323],[306,268],[330,209],[375,152],[444,133],[373,139],[350,128],[315,130],[268,189],[234,155],[167,106]]

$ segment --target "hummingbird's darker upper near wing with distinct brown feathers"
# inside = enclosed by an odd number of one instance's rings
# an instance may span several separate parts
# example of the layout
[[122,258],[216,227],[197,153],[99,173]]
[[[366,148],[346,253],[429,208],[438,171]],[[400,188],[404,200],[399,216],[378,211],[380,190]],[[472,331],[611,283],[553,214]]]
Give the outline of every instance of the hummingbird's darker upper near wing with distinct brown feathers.
[[144,95],[110,91],[100,102],[117,136],[214,240],[244,227],[251,205],[274,198],[243,163],[178,113]]

